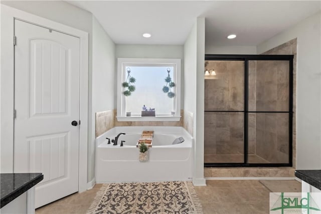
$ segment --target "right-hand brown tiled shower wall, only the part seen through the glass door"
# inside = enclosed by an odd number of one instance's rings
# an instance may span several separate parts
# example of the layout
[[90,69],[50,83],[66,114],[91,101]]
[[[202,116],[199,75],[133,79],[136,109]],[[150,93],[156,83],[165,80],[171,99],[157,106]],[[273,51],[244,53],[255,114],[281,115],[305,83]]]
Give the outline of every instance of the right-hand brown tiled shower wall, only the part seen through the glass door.
[[[288,111],[288,71],[288,61],[256,62],[257,111]],[[256,117],[256,154],[271,163],[288,162],[288,114],[252,115]]]

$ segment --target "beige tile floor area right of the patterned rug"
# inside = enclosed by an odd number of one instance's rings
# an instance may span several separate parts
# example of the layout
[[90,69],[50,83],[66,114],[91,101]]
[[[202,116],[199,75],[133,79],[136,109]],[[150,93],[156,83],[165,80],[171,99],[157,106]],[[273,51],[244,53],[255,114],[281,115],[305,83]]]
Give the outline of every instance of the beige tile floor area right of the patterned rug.
[[[269,213],[269,192],[300,192],[296,180],[207,180],[207,186],[195,186],[204,214]],[[273,182],[273,190],[267,185]]]

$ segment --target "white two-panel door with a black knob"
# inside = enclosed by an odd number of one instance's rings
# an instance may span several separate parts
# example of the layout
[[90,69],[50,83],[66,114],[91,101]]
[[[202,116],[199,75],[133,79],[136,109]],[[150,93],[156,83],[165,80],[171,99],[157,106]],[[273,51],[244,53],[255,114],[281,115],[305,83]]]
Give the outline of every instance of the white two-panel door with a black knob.
[[79,38],[15,20],[14,172],[42,172],[36,207],[78,191]]

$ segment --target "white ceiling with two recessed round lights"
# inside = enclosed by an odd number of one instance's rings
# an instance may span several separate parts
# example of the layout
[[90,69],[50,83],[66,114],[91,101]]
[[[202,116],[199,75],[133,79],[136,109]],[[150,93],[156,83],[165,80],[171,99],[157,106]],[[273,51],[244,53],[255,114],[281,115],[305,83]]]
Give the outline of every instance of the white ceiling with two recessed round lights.
[[67,2],[91,12],[116,44],[182,45],[205,17],[206,45],[256,46],[321,8],[320,1]]

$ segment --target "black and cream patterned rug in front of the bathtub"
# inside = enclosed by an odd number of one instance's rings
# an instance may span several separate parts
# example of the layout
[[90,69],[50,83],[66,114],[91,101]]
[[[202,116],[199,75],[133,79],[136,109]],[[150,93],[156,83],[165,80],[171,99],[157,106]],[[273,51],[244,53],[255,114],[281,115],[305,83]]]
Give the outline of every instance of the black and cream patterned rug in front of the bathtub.
[[192,182],[103,184],[87,214],[203,214]]

